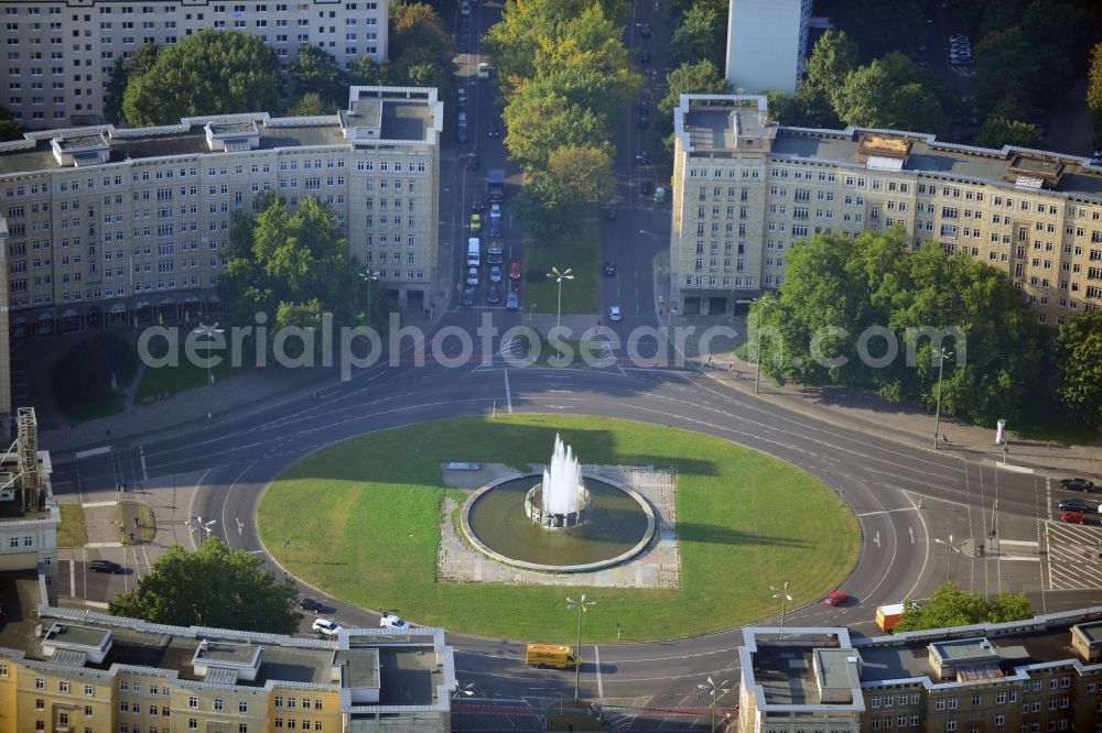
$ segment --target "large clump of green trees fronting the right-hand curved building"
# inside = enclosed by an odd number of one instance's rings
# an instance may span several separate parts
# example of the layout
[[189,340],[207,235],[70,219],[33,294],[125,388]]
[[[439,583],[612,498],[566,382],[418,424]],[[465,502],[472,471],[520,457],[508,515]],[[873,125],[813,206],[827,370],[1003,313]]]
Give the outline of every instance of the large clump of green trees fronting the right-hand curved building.
[[[931,348],[940,346],[954,354],[946,361],[942,411],[985,423],[1016,417],[1037,383],[1036,318],[1004,272],[966,253],[950,255],[934,242],[909,253],[903,233],[892,230],[819,234],[797,243],[785,263],[779,299],[754,306],[752,319],[764,318],[763,370],[780,382],[866,386],[884,398],[932,405]],[[909,332],[925,328],[947,338],[931,343]],[[862,336],[876,330],[899,348],[886,363],[877,363],[887,348],[880,336],[864,348],[871,359],[861,358]]]

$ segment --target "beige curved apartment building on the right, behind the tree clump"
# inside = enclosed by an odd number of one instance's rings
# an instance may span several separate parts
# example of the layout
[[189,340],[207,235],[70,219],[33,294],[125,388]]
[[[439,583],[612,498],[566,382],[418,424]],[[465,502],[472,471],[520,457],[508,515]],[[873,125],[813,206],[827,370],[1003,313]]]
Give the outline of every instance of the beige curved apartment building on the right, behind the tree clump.
[[672,303],[731,313],[785,280],[820,232],[901,228],[1006,272],[1042,322],[1102,306],[1102,167],[890,130],[785,128],[759,96],[684,95],[674,112]]

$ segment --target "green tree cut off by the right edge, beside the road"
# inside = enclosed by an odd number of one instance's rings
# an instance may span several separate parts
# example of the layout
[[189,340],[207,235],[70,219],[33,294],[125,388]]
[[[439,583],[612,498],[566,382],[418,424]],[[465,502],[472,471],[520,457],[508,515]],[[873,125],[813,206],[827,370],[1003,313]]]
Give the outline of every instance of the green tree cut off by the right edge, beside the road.
[[1056,351],[1060,400],[1072,414],[1102,430],[1102,310],[1084,313],[1060,326]]

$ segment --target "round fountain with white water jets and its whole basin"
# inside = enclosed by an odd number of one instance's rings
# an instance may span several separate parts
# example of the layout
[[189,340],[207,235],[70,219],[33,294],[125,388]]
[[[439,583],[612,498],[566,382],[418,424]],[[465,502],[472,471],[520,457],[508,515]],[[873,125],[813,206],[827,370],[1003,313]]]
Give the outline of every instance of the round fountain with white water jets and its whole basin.
[[[532,485],[532,480],[539,482]],[[485,555],[507,565],[583,572],[635,557],[655,535],[655,512],[628,486],[586,475],[555,436],[542,473],[501,479],[463,505],[463,532]]]

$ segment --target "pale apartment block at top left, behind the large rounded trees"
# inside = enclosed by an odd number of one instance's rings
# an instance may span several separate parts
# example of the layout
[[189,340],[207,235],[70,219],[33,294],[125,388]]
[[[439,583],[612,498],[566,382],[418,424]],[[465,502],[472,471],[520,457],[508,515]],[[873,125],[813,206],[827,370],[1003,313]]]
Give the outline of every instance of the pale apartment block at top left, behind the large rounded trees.
[[115,62],[136,48],[169,45],[204,29],[258,36],[283,70],[304,43],[345,68],[357,56],[387,57],[389,0],[4,0],[0,105],[31,128],[104,122]]

